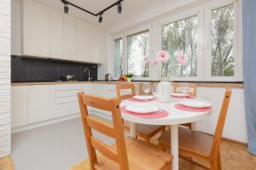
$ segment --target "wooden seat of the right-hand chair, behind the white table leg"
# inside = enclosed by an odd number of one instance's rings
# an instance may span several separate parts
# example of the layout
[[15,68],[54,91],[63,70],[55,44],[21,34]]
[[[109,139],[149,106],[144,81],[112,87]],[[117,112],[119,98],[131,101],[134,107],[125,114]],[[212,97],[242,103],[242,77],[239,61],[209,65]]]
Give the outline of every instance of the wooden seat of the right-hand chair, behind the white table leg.
[[[192,131],[186,127],[178,128],[178,148],[186,152],[197,153],[200,156],[210,156],[213,137],[206,133]],[[160,144],[170,147],[171,129],[168,129],[160,139]]]

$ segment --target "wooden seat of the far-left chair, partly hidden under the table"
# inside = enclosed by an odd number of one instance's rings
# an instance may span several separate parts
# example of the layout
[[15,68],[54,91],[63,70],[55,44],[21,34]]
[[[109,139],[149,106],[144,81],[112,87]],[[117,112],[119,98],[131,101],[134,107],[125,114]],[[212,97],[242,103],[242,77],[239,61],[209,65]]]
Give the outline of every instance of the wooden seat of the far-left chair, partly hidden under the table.
[[[130,123],[124,123],[125,130],[130,130]],[[156,133],[160,132],[161,130],[165,130],[165,126],[158,126],[158,125],[144,125],[144,124],[136,124],[136,134],[140,137],[153,137]]]

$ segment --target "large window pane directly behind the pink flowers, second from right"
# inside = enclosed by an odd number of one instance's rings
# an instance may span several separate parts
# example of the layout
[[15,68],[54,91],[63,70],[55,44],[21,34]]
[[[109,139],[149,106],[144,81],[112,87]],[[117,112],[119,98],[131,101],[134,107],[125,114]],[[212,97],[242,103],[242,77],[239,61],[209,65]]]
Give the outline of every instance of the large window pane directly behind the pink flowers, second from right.
[[[171,56],[164,67],[166,76],[197,76],[197,22],[198,17],[195,15],[162,26],[162,49]],[[187,62],[179,65],[177,60],[182,55]]]

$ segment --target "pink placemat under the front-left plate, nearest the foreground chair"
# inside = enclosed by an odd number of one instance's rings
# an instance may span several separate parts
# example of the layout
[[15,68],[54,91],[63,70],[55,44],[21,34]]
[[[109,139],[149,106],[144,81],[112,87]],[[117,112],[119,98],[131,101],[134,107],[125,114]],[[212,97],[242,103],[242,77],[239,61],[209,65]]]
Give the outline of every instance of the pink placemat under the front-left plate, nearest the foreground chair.
[[146,113],[146,114],[139,114],[139,113],[127,111],[127,110],[125,109],[125,107],[126,107],[126,106],[122,106],[122,107],[121,107],[121,112],[122,112],[122,113],[131,115],[131,116],[141,117],[141,118],[144,118],[144,119],[160,119],[160,118],[164,118],[164,117],[166,117],[166,116],[169,115],[168,111],[162,111],[162,110],[160,110],[160,111],[154,111],[154,112]]

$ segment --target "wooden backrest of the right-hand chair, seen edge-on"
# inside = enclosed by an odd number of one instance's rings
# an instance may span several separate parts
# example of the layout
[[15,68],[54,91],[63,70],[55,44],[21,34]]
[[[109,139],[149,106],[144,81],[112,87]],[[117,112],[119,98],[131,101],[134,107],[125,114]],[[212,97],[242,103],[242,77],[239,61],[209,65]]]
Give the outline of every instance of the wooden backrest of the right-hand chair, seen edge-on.
[[221,110],[218,116],[218,123],[215,129],[213,142],[212,142],[212,151],[211,151],[212,157],[214,157],[215,159],[218,157],[219,144],[222,139],[222,133],[223,133],[224,124],[225,124],[227,112],[230,105],[231,94],[232,94],[231,89],[227,88],[224,94],[224,99],[223,99]]

